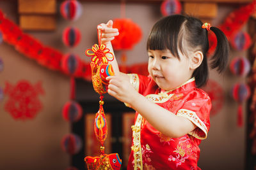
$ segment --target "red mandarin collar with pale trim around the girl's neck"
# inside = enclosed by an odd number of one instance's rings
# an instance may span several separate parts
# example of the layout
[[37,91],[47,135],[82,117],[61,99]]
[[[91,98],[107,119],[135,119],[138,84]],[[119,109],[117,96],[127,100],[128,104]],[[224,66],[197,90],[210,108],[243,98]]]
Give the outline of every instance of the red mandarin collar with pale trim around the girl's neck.
[[165,91],[163,89],[160,90],[159,94],[177,94],[177,93],[182,93],[185,92],[187,90],[190,90],[192,88],[195,87],[195,77],[190,78],[188,81],[186,81],[185,83],[182,83],[182,85],[180,85],[179,87],[176,87],[175,89],[172,90],[168,90]]

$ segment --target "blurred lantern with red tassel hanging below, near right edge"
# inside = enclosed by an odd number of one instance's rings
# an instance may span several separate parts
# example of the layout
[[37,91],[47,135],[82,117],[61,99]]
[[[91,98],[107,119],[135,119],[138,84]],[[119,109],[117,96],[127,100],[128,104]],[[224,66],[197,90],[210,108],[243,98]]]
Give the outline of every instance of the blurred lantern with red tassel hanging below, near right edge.
[[243,83],[236,83],[232,87],[232,97],[238,102],[237,112],[237,125],[241,127],[243,125],[243,108],[242,103],[250,97],[250,88]]

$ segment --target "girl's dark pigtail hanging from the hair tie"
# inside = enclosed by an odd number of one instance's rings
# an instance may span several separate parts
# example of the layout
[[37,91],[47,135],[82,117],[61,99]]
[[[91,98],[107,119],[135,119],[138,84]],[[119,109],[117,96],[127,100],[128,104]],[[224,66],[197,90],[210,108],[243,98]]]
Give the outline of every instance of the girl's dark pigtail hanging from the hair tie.
[[211,27],[211,31],[214,32],[217,38],[217,46],[214,55],[211,57],[211,69],[217,68],[217,71],[221,73],[227,67],[229,45],[225,34],[217,27]]

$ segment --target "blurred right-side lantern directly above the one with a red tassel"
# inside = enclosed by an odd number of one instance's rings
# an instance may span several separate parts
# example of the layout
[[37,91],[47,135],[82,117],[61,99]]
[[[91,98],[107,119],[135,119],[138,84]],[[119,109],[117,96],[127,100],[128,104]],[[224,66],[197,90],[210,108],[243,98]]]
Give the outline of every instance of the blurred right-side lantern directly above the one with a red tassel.
[[250,68],[250,62],[245,57],[235,57],[230,62],[230,71],[237,76],[246,76]]

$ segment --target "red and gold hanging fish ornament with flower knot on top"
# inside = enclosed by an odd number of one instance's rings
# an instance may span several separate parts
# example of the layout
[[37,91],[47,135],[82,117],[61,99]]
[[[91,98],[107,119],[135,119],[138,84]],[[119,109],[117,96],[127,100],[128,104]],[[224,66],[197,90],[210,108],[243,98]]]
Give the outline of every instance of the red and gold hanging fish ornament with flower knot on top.
[[100,169],[109,169],[109,170],[118,170],[122,165],[122,160],[118,156],[118,153],[105,154],[104,150],[104,141],[108,135],[108,125],[106,116],[103,109],[103,95],[108,91],[108,76],[115,75],[112,65],[109,61],[114,59],[113,53],[110,52],[106,45],[101,44],[101,32],[98,29],[98,41],[99,45],[95,44],[92,46],[92,49],[86,50],[85,54],[88,57],[92,57],[92,62],[90,64],[92,69],[92,83],[93,89],[95,92],[100,94],[99,101],[99,111],[95,114],[94,121],[94,132],[97,139],[100,141],[100,156],[99,157],[90,157],[87,156],[84,158],[89,170],[100,170]]

